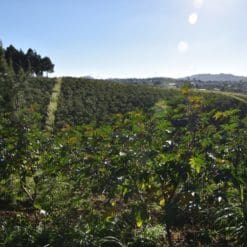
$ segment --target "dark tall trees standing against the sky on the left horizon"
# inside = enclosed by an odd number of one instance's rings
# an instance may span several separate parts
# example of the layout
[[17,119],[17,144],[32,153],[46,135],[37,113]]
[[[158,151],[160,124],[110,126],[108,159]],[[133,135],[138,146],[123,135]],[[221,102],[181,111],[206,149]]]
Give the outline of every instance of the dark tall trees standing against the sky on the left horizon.
[[31,48],[26,53],[13,45],[4,49],[0,42],[0,74],[43,76],[44,72],[53,71],[54,64],[49,57],[42,57]]

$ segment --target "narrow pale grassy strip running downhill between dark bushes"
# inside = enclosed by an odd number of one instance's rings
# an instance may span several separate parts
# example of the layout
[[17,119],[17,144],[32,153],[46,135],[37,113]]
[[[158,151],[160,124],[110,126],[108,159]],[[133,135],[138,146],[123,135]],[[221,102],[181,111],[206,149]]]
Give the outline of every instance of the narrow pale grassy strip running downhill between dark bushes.
[[61,93],[62,79],[58,78],[51,94],[50,103],[47,108],[47,119],[46,119],[46,129],[52,131],[55,123],[55,114],[58,106],[58,99]]

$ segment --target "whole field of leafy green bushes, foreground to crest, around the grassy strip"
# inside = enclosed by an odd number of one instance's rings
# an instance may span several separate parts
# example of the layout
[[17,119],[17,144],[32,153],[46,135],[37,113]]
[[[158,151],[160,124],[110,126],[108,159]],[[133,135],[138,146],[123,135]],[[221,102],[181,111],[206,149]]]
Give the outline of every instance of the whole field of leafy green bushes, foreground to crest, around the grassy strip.
[[65,78],[48,132],[54,81],[25,83],[1,94],[3,246],[245,245],[243,102]]

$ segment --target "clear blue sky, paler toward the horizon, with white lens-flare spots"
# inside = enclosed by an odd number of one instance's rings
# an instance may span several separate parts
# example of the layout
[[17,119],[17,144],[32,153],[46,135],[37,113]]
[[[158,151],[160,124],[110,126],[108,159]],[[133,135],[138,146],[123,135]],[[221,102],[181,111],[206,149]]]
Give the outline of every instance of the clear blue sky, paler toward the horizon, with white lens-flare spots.
[[0,39],[54,75],[247,75],[247,0],[1,0]]

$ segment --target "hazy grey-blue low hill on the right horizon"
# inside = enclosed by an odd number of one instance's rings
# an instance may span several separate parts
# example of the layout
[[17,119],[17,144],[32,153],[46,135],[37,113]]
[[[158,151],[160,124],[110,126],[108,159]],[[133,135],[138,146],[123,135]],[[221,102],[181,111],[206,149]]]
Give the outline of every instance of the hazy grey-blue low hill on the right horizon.
[[245,76],[236,76],[232,74],[198,74],[198,75],[192,75],[183,79],[189,79],[189,80],[197,80],[197,81],[203,81],[203,82],[240,82],[244,81],[247,82],[247,77]]

